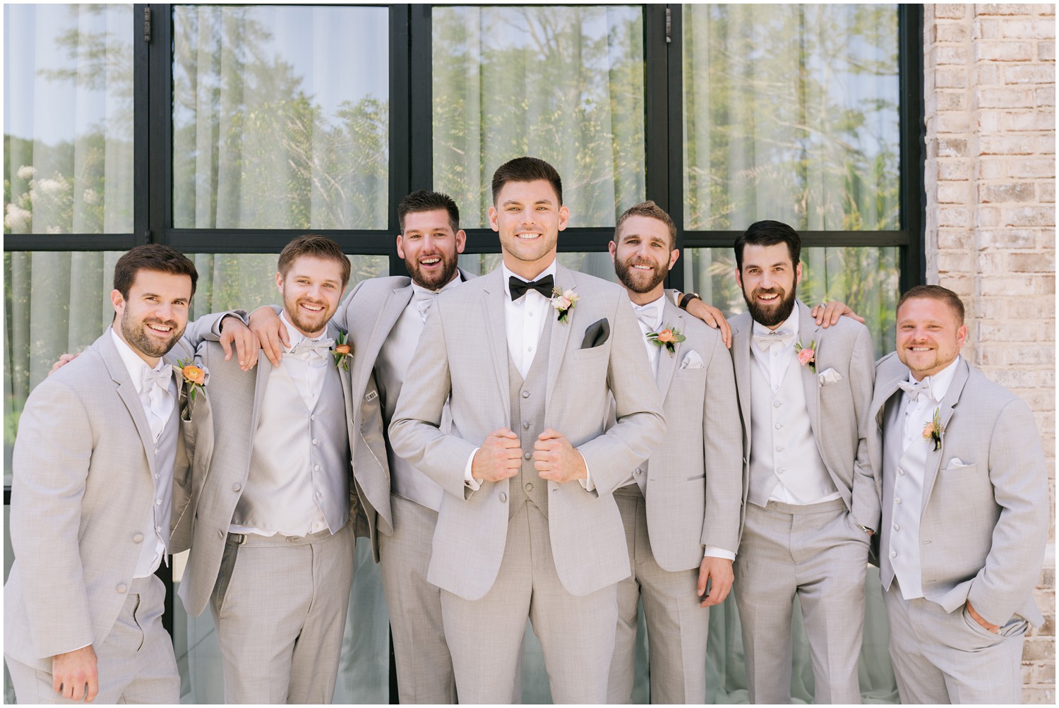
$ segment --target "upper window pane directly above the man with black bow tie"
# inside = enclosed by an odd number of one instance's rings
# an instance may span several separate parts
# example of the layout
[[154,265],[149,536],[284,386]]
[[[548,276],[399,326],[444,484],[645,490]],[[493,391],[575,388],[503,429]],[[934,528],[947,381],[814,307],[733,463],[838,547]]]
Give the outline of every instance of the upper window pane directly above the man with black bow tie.
[[433,10],[434,188],[467,229],[488,224],[492,173],[548,160],[572,226],[644,199],[641,7]]

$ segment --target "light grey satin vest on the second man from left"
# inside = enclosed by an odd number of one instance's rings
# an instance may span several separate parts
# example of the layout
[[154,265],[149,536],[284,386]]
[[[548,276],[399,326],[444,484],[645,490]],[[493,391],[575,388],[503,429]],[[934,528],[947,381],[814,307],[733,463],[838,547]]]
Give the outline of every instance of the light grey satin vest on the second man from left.
[[312,411],[281,365],[258,403],[247,485],[232,523],[301,535],[319,509],[335,533],[349,515],[349,438],[338,368]]

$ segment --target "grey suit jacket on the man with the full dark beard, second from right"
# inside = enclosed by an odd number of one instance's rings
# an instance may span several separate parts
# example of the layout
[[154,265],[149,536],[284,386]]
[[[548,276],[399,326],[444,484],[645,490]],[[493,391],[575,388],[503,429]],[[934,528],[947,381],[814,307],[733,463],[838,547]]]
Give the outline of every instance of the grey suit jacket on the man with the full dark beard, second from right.
[[[816,325],[804,303],[798,301],[797,308],[797,341],[805,346],[816,342],[815,373],[808,365],[801,367],[816,449],[854,523],[878,530],[881,475],[868,455],[867,440],[870,434],[868,407],[875,382],[872,337],[867,327],[849,317],[840,317],[837,325],[823,329]],[[732,359],[743,420],[742,501],[746,505],[753,443],[750,439],[753,319],[744,312],[729,322],[732,325]],[[842,379],[821,384],[818,375],[829,368],[838,371]]]

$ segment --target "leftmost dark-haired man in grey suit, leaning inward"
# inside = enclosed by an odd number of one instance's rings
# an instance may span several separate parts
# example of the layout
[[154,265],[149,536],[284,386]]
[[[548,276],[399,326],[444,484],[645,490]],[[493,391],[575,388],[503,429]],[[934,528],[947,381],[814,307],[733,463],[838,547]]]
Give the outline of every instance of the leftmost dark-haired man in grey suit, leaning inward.
[[113,325],[26,400],[4,587],[4,658],[20,703],[180,701],[154,574],[185,545],[169,535],[190,498],[189,392],[173,364],[194,353],[180,337],[197,278],[165,246],[123,255]]

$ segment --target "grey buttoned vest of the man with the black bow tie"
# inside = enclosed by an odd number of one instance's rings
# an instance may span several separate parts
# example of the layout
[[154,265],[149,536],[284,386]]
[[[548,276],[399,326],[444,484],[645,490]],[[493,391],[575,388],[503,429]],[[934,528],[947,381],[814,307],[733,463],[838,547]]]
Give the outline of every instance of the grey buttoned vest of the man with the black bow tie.
[[549,317],[544,331],[540,333],[537,356],[533,359],[525,380],[510,355],[507,356],[511,430],[519,436],[519,447],[522,448],[522,469],[511,477],[507,492],[510,496],[507,505],[508,521],[526,502],[534,504],[548,518],[548,482],[540,478],[533,466],[533,449],[537,436],[548,428],[544,422],[544,397],[548,389],[548,349],[553,322],[554,317]]

